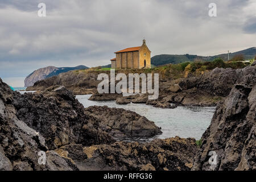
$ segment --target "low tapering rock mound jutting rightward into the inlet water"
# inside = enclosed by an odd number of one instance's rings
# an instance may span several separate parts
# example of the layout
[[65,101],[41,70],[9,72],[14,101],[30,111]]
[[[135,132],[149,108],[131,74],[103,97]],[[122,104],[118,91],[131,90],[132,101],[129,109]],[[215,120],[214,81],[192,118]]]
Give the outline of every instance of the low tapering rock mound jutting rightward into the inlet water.
[[120,137],[153,137],[162,131],[154,122],[134,111],[109,108],[107,106],[90,106],[85,109],[86,115],[92,115],[100,122],[100,129]]

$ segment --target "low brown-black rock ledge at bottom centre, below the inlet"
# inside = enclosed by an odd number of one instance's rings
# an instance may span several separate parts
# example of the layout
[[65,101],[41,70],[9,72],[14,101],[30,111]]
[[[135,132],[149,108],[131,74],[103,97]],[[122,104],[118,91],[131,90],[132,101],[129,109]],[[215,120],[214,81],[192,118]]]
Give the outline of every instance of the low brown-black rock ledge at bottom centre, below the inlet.
[[195,139],[179,137],[81,148],[67,145],[57,152],[71,158],[80,170],[179,171],[191,169],[197,151]]

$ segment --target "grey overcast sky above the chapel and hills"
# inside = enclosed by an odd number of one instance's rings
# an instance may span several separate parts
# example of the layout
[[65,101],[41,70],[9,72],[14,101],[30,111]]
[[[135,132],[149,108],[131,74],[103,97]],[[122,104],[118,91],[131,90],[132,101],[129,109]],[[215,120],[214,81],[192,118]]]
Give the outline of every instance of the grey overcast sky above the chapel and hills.
[[[38,4],[46,4],[46,17]],[[217,17],[208,15],[209,3]],[[115,51],[217,55],[255,47],[256,0],[0,0],[0,77],[12,86],[36,69],[110,64]]]

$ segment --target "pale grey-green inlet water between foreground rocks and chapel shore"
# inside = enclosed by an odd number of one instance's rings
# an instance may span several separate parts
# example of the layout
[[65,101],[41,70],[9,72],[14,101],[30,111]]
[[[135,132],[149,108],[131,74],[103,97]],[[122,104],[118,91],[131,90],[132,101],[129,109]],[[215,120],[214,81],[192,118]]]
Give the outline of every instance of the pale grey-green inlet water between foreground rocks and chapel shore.
[[[127,104],[117,105],[115,101],[89,101],[91,95],[76,96],[84,107],[89,106],[109,106],[123,108],[126,110],[135,111],[143,115],[150,121],[154,121],[159,127],[162,127],[163,134],[154,138],[201,138],[204,131],[210,125],[216,107],[185,107],[179,106],[175,109],[161,109],[146,104]],[[127,138],[127,140],[147,141],[154,138]]]

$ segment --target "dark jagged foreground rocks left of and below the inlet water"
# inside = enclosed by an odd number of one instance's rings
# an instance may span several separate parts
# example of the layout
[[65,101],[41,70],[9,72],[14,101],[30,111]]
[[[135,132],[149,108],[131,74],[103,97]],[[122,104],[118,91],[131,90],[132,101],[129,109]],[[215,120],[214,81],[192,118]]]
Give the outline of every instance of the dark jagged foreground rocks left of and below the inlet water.
[[[161,131],[132,111],[84,109],[64,86],[22,95],[0,80],[0,98],[1,170],[184,170],[197,150],[195,139],[178,137],[115,142],[119,135],[152,137]],[[46,152],[46,165],[38,163],[39,151]]]

